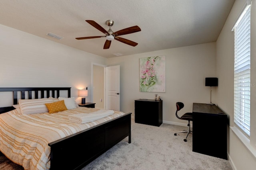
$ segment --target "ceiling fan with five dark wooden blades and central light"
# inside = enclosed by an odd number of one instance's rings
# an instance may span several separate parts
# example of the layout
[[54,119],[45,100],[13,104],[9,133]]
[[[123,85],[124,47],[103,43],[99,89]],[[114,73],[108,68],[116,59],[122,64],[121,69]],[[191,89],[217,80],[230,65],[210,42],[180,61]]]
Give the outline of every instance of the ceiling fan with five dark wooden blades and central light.
[[120,35],[126,35],[126,34],[130,34],[130,33],[136,33],[138,31],[141,31],[140,27],[133,26],[133,27],[128,27],[125,29],[121,29],[119,31],[113,32],[111,29],[111,26],[114,25],[114,21],[113,20],[107,20],[106,24],[109,26],[108,31],[106,31],[102,26],[100,26],[98,23],[96,23],[95,21],[92,20],[85,20],[86,22],[88,22],[90,25],[92,25],[93,27],[95,27],[96,29],[100,30],[102,33],[106,34],[105,36],[93,36],[93,37],[79,37],[76,39],[91,39],[91,38],[102,38],[102,37],[106,37],[106,42],[104,44],[103,49],[109,49],[111,41],[112,40],[117,40],[120,41],[122,43],[131,45],[133,47],[135,47],[136,45],[138,45],[138,43],[135,43],[133,41],[130,41],[128,39],[122,38],[122,37],[117,37]]

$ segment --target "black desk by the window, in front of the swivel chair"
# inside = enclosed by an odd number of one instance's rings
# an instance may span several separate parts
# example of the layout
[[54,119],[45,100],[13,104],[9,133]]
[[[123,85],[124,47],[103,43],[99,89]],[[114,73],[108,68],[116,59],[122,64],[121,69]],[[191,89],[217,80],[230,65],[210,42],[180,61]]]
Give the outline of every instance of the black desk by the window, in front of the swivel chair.
[[227,115],[216,105],[193,103],[193,152],[227,159]]

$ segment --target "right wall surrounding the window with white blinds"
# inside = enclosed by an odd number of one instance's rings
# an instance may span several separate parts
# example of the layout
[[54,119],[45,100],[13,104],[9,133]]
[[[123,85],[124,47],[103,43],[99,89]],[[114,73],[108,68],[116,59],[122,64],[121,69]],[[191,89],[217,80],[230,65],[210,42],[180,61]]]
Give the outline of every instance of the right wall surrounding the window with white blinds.
[[[231,31],[246,0],[236,0],[216,42],[216,71],[219,78],[217,104],[228,114],[234,126],[234,32]],[[256,83],[256,0],[251,6],[251,83]],[[256,167],[256,87],[251,87],[251,137],[239,138],[228,128],[228,154],[236,170],[254,170]],[[244,140],[245,142],[242,142]],[[254,154],[254,155],[253,155]]]

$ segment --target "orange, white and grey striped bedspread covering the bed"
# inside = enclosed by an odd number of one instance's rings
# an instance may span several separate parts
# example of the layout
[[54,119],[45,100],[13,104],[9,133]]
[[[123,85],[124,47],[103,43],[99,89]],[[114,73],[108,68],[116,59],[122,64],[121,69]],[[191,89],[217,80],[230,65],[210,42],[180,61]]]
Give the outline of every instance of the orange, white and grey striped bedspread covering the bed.
[[84,129],[124,115],[114,114],[96,121],[78,124],[69,121],[68,115],[91,113],[96,108],[78,107],[58,113],[19,114],[17,109],[0,114],[0,151],[25,170],[48,170],[50,147],[48,143]]

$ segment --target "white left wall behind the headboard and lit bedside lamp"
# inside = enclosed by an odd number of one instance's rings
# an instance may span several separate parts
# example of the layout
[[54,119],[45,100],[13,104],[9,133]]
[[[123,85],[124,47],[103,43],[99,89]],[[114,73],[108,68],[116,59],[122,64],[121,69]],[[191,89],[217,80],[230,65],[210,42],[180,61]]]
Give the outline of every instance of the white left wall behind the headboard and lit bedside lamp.
[[[71,87],[80,103],[78,89],[90,89],[92,62],[106,59],[0,25],[0,87]],[[0,100],[0,107],[10,106]]]

